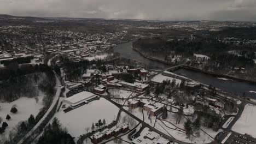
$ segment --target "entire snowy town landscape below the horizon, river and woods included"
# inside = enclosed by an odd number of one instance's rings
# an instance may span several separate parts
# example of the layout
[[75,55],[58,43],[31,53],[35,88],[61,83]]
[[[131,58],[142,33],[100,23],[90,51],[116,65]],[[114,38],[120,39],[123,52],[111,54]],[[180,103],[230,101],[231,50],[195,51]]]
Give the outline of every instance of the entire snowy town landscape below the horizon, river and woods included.
[[256,143],[254,22],[0,24],[0,143]]

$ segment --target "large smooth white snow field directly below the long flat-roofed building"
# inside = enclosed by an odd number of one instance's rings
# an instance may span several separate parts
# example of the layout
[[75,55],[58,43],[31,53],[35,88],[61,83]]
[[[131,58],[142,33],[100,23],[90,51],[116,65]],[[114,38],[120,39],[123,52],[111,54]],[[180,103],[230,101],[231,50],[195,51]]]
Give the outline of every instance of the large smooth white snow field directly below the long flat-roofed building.
[[105,119],[106,124],[109,124],[115,120],[118,111],[117,106],[101,98],[67,113],[57,112],[54,117],[58,118],[62,127],[67,128],[68,132],[77,140],[79,135],[86,133],[85,127],[91,128],[92,123],[98,122],[99,119],[102,121]]

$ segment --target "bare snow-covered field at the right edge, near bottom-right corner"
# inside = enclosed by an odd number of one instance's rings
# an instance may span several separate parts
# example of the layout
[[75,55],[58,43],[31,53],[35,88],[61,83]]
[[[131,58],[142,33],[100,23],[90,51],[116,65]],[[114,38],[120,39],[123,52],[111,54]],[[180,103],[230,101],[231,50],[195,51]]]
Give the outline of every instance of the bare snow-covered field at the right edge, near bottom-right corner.
[[243,110],[241,117],[232,127],[232,130],[237,131],[237,133],[240,134],[249,134],[252,135],[253,137],[256,137],[255,111],[255,105],[247,104],[245,106],[245,110]]

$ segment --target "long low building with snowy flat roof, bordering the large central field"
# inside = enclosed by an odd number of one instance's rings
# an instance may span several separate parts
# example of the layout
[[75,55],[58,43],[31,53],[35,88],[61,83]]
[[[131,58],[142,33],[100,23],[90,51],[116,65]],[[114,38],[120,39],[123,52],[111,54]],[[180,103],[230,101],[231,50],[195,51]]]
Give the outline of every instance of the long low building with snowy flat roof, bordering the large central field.
[[80,92],[74,94],[72,97],[66,98],[63,102],[69,104],[72,108],[79,106],[82,103],[88,103],[91,99],[97,98],[97,95],[90,92]]

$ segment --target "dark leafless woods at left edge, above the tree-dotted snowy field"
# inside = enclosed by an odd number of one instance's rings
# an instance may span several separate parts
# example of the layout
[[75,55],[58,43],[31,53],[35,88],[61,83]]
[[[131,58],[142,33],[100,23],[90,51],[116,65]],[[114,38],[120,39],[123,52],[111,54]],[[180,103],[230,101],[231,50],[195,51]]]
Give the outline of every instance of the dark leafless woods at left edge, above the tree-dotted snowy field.
[[[9,74],[8,74],[9,71]],[[7,77],[4,77],[8,75]],[[46,95],[54,94],[55,76],[47,65],[30,65],[19,69],[1,69],[0,100],[11,102],[20,97],[36,97],[39,90]]]

